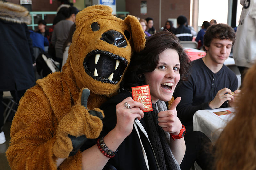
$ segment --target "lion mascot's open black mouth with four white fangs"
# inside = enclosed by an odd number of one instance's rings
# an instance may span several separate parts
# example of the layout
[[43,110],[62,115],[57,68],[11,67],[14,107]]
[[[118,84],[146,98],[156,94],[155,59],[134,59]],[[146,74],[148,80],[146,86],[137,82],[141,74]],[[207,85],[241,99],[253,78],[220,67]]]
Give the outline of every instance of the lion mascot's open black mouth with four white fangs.
[[95,80],[116,84],[120,81],[128,61],[108,51],[93,50],[84,59],[86,73]]

